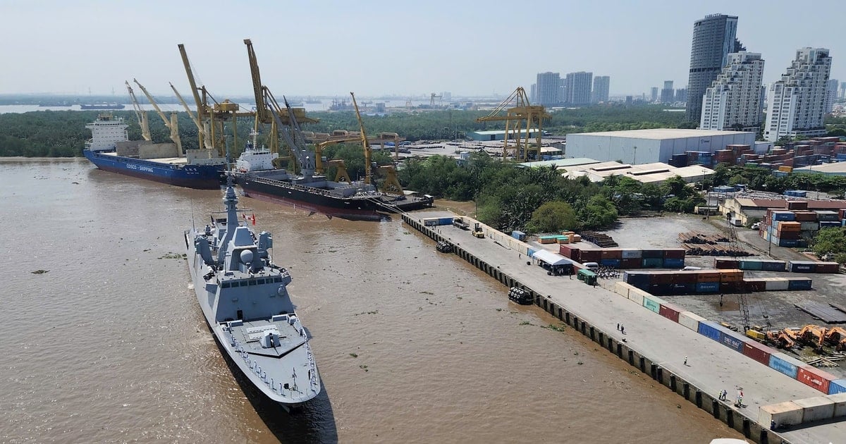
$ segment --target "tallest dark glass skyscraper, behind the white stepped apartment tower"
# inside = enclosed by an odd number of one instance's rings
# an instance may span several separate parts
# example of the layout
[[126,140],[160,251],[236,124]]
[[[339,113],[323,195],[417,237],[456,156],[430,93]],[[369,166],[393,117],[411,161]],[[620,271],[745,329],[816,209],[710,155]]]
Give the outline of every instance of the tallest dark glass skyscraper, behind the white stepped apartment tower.
[[702,95],[726,66],[730,52],[745,51],[735,38],[738,18],[733,15],[711,14],[693,24],[693,44],[690,47],[688,101],[686,120],[698,122],[702,114]]

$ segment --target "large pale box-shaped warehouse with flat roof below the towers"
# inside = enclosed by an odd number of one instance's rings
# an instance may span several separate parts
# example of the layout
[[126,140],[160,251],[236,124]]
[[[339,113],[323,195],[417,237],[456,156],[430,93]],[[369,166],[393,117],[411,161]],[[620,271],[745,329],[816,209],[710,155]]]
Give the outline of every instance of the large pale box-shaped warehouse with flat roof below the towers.
[[755,145],[755,133],[705,129],[633,129],[567,135],[568,157],[598,161],[639,163],[669,162],[686,151],[713,153],[728,145]]

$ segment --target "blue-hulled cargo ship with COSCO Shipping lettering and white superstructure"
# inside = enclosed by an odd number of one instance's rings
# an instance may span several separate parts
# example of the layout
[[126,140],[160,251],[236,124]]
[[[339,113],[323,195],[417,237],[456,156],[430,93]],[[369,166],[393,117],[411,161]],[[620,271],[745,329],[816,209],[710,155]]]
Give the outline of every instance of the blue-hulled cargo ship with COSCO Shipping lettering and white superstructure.
[[85,125],[91,129],[82,151],[85,158],[104,171],[180,187],[219,189],[225,182],[225,158],[211,156],[209,150],[188,150],[181,156],[174,144],[129,140],[128,126],[111,114]]

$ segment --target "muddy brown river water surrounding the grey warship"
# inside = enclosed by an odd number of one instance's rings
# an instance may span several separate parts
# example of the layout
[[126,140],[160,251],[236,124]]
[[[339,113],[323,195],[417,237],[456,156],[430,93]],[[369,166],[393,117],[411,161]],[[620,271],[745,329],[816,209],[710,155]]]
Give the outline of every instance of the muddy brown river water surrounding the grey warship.
[[[737,434],[392,222],[241,198],[324,392],[288,414],[220,355],[183,230],[222,192],[0,162],[0,441],[708,442]],[[33,274],[32,271],[47,270]]]

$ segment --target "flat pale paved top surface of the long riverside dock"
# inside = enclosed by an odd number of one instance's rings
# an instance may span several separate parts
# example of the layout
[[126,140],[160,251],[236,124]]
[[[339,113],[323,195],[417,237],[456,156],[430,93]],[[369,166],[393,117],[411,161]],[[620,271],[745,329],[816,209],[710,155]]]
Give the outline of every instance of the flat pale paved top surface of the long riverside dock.
[[[415,213],[415,217],[429,216]],[[470,219],[468,222],[472,227],[474,221]],[[728,391],[729,401],[725,404],[733,403],[736,387],[742,387],[744,408],[732,408],[750,419],[757,419],[758,408],[763,405],[823,395],[721,343],[646,310],[610,289],[589,287],[575,277],[548,276],[540,266],[526,265],[529,260],[526,255],[496,243],[492,238],[474,238],[470,231],[452,226],[431,228],[490,266],[523,282],[536,293],[546,294],[553,302],[608,336],[617,341],[625,338],[629,348],[712,397],[717,397],[721,390]],[[614,283],[601,282],[608,286]],[[503,287],[503,298],[507,297],[508,289]],[[625,327],[625,334],[618,332],[618,323]],[[684,365],[685,356],[687,365]],[[846,442],[846,421],[789,430],[781,432],[781,435],[797,444]]]

